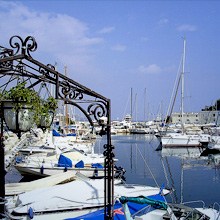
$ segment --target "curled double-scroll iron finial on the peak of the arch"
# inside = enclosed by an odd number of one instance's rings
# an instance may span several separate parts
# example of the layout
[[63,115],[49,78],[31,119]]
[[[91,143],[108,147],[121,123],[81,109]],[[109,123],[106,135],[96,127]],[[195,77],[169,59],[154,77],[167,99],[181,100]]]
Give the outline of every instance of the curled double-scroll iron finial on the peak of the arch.
[[[18,42],[14,42],[15,39],[19,39],[20,44]],[[10,38],[9,43],[12,48],[17,49],[16,52],[14,53],[14,55],[18,54],[18,52],[21,50],[21,54],[26,55],[26,53],[27,53],[28,56],[31,57],[30,52],[34,52],[37,50],[37,42],[35,41],[35,38],[31,37],[31,36],[28,36],[23,41],[23,39],[20,36],[15,35]]]

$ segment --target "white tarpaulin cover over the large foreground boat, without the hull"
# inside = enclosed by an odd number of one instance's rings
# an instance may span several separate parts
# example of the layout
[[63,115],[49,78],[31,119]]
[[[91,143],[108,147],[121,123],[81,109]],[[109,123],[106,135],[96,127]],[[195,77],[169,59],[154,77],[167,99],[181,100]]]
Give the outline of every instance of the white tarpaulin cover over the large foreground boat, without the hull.
[[[118,184],[114,187],[115,199],[121,196],[156,195],[159,192],[159,188],[141,185]],[[169,193],[168,190],[163,192]],[[8,204],[9,211],[25,214],[30,207],[34,212],[46,212],[104,206],[104,180],[76,180],[36,189],[19,195],[16,206],[12,208],[12,204]]]

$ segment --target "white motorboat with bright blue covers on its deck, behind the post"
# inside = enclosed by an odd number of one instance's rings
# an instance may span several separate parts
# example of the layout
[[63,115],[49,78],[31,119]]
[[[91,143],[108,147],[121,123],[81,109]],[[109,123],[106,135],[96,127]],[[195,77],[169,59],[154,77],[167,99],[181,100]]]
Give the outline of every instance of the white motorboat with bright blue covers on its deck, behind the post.
[[21,175],[51,176],[70,170],[87,177],[104,177],[104,157],[83,154],[77,150],[54,155],[31,155],[18,160],[14,167]]

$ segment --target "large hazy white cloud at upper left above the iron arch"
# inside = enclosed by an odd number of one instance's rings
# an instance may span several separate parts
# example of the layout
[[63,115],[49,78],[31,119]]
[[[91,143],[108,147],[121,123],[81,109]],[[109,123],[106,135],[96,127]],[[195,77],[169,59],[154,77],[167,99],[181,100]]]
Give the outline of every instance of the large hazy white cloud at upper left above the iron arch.
[[[36,54],[41,54],[41,61],[50,54],[49,62],[64,62],[62,65],[74,66],[77,72],[91,69],[89,64],[94,58],[94,46],[104,42],[102,38],[89,37],[88,25],[74,17],[30,10],[21,2],[1,1],[0,20],[4,21],[0,22],[0,32],[4,33],[0,35],[2,45],[7,46],[13,35],[23,39],[33,36],[38,44]],[[65,61],[63,57],[68,59]]]

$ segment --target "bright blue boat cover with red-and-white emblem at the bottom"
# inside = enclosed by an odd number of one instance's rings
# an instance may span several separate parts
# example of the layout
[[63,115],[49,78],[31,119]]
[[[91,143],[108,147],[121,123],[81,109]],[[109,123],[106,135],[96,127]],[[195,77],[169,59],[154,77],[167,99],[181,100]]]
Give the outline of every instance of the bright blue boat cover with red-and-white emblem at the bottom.
[[[161,195],[153,195],[153,196],[148,196],[147,198],[152,198],[152,199],[156,199],[156,200],[159,200],[159,201],[165,201],[164,197],[161,196]],[[143,209],[144,207],[149,207],[148,211],[151,211],[153,210],[154,208],[151,207],[150,205],[147,205],[147,204],[136,204],[136,203],[130,203],[128,202],[128,208],[130,210],[130,213],[131,215],[133,215],[135,212]],[[143,213],[139,213],[140,214],[143,214]],[[102,210],[99,210],[99,211],[96,211],[96,212],[93,212],[93,213],[89,213],[89,214],[86,214],[86,215],[82,215],[82,216],[79,216],[79,217],[76,217],[76,218],[67,218],[67,219],[64,219],[64,220],[104,220],[105,219],[105,210],[102,209]],[[125,215],[124,215],[124,209],[123,209],[123,206],[121,203],[115,203],[114,205],[114,220],[126,220],[125,219]]]

